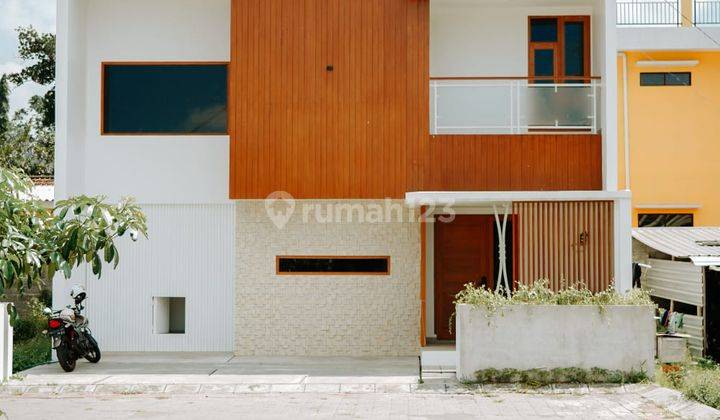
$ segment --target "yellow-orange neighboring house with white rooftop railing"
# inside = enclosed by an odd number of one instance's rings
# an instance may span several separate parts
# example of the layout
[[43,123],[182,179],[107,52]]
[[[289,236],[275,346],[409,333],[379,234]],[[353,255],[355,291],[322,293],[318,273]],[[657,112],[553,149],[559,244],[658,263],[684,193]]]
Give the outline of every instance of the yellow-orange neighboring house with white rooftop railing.
[[624,0],[617,15],[619,186],[633,192],[633,224],[719,226],[720,1]]

